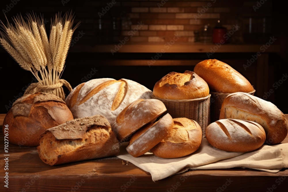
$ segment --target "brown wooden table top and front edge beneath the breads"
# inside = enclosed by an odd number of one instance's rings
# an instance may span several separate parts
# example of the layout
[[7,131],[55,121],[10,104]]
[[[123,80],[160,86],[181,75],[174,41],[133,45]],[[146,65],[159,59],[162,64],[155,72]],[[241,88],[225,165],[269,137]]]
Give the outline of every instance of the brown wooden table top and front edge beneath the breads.
[[[5,114],[0,114],[0,125]],[[286,115],[286,118],[288,115]],[[288,169],[194,170],[156,182],[151,175],[117,157],[59,166],[44,164],[34,147],[9,144],[9,188],[4,187],[4,138],[0,135],[0,191],[287,191]],[[288,137],[283,143],[288,142]],[[228,182],[230,181],[230,182]],[[221,189],[220,189],[221,187]],[[274,187],[274,189],[273,189]]]

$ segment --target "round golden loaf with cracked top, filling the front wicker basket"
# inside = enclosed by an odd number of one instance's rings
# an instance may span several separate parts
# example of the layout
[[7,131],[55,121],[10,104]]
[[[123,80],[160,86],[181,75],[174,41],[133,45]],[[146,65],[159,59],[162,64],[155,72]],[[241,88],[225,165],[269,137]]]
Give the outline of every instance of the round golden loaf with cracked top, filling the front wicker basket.
[[170,72],[155,84],[153,95],[161,99],[197,99],[208,96],[209,87],[192,71]]

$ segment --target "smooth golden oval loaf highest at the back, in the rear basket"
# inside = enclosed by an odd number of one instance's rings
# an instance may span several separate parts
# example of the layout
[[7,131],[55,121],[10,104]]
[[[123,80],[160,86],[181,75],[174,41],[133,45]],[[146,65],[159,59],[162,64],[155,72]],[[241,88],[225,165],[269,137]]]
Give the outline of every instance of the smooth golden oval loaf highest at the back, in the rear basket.
[[228,64],[216,59],[208,59],[196,64],[194,72],[202,77],[211,92],[235,93],[253,92],[249,81]]

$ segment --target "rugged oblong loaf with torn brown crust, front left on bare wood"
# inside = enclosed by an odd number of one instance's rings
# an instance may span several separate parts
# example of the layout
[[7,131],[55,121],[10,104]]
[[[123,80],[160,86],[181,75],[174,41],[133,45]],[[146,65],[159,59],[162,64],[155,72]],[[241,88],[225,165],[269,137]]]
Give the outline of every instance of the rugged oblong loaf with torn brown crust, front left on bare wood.
[[37,147],[48,165],[117,155],[119,142],[107,119],[101,115],[68,121],[46,130]]

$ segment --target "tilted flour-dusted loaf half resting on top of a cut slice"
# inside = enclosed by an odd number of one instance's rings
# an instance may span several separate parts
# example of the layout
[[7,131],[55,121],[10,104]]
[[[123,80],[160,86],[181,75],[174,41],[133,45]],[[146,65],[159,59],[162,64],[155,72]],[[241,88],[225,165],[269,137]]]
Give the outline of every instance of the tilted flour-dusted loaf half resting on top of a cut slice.
[[120,142],[125,141],[127,136],[155,120],[165,111],[166,107],[160,100],[136,100],[119,113],[113,123],[113,131]]

